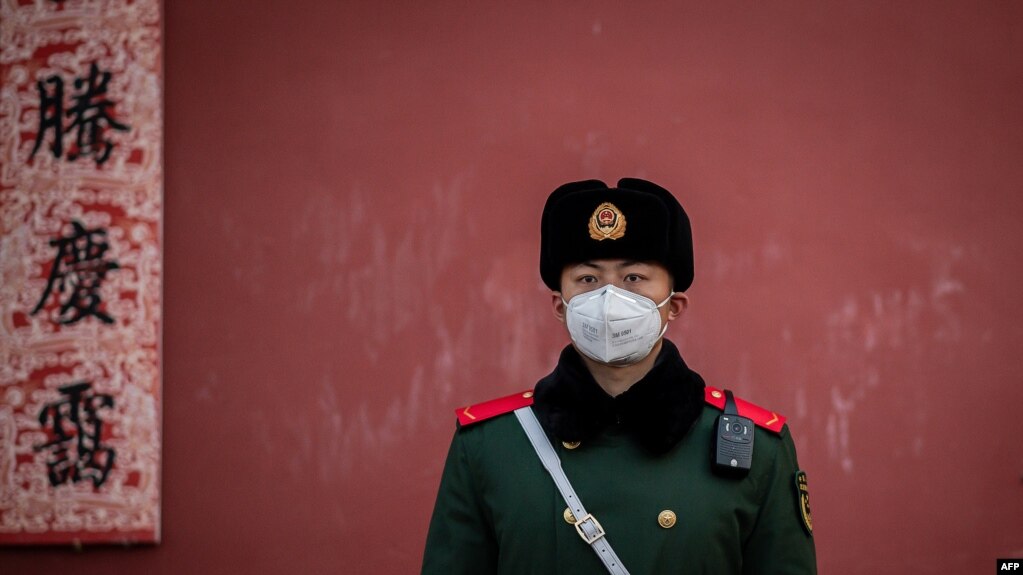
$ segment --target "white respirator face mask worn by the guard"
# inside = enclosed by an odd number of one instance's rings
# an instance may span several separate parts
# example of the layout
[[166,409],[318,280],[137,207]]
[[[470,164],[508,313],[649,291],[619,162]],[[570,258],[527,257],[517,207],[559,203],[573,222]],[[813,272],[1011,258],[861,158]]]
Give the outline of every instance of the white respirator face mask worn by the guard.
[[614,285],[579,294],[565,302],[566,323],[576,348],[594,361],[630,365],[647,357],[668,329],[661,312],[674,295],[660,304]]

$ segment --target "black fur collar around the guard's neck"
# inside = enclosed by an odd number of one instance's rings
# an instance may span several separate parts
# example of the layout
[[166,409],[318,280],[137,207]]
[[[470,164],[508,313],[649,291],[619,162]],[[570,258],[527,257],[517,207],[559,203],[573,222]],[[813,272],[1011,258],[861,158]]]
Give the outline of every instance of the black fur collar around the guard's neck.
[[703,379],[664,340],[654,367],[625,393],[611,397],[571,345],[558,366],[536,384],[533,408],[544,429],[562,441],[583,441],[620,423],[652,453],[675,446],[700,416]]

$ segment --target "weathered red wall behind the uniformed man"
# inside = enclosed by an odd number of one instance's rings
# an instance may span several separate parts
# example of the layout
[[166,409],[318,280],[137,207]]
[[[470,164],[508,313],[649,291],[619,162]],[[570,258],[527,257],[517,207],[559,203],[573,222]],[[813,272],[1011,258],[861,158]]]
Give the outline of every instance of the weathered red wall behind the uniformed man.
[[415,572],[453,408],[567,341],[546,194],[622,176],[690,212],[669,337],[790,416],[822,573],[1023,556],[1023,4],[301,4],[165,6],[163,543],[4,573]]

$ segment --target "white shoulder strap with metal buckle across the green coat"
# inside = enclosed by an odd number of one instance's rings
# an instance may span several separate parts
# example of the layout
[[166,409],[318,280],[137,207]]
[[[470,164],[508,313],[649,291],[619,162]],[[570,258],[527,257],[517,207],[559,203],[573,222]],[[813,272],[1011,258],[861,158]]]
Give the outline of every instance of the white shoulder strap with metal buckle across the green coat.
[[604,566],[608,568],[608,572],[614,575],[629,575],[628,570],[622,565],[622,561],[615,555],[615,549],[611,548],[611,543],[608,542],[608,538],[604,534],[604,528],[597,523],[596,518],[586,513],[586,507],[582,506],[582,501],[579,500],[569,478],[565,475],[565,470],[562,469],[562,460],[558,458],[558,453],[550,446],[550,441],[543,433],[540,422],[533,414],[533,409],[530,407],[516,409],[515,416],[519,418],[519,424],[522,425],[526,436],[529,437],[529,442],[533,444],[533,449],[536,450],[543,467],[554,480],[554,485],[558,486],[562,497],[565,498],[565,503],[572,510],[572,515],[577,520],[576,531],[579,532],[579,536],[592,547],[596,557],[601,558]]

